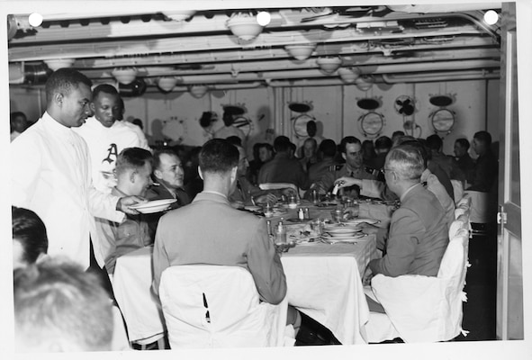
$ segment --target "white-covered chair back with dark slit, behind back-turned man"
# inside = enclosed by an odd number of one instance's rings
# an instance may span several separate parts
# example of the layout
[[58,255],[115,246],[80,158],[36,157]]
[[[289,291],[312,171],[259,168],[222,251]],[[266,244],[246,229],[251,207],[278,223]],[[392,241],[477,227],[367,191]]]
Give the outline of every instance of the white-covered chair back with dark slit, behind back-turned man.
[[170,347],[266,347],[266,309],[239,266],[170,266],[159,298]]

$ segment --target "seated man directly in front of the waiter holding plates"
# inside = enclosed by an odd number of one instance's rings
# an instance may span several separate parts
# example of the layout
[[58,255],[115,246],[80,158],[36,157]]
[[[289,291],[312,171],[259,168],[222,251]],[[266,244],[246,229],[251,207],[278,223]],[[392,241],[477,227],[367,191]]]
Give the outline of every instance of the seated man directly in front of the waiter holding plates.
[[[124,148],[116,161],[117,184],[113,187],[112,194],[143,197],[152,184],[152,160],[151,153],[144,148]],[[102,256],[109,275],[113,275],[118,257],[153,243],[148,223],[141,214],[128,214],[122,222],[96,218],[96,226],[102,239]]]

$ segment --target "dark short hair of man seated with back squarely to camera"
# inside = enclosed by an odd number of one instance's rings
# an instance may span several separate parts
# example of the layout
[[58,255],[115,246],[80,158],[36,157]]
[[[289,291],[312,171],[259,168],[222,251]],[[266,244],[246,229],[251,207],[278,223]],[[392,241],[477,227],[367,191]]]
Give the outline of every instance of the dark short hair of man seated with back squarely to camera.
[[211,139],[200,151],[200,168],[203,173],[228,173],[239,166],[239,157],[239,149],[227,139]]

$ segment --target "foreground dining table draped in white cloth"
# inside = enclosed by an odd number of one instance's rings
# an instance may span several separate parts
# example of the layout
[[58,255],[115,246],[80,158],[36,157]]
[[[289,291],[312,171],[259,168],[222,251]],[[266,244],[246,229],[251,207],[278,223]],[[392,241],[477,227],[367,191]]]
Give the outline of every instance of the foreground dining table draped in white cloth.
[[[278,207],[274,216],[266,220],[273,226],[284,221],[290,234],[288,241],[293,245],[280,254],[288,304],[319,321],[343,345],[361,344],[366,343],[364,325],[369,320],[362,277],[369,261],[381,256],[375,236],[358,235],[351,241],[330,244],[320,238],[309,238],[304,231],[312,220],[330,221],[331,212],[339,206],[316,206],[302,201],[293,209]],[[308,209],[308,219],[299,220],[299,208]],[[387,226],[391,211],[383,203],[365,202],[359,208],[360,214],[381,217],[373,221],[377,226]],[[130,341],[140,344],[154,342],[166,333],[160,302],[151,292],[152,253],[153,247],[142,247],[117,258],[113,275],[114,296]]]

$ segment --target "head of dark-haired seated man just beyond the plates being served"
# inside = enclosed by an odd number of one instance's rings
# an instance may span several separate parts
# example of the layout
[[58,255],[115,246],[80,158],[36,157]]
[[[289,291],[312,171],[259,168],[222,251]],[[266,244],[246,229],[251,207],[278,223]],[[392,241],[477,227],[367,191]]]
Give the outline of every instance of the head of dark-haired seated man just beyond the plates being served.
[[163,148],[153,154],[153,175],[159,184],[171,192],[183,187],[185,171],[174,150]]

